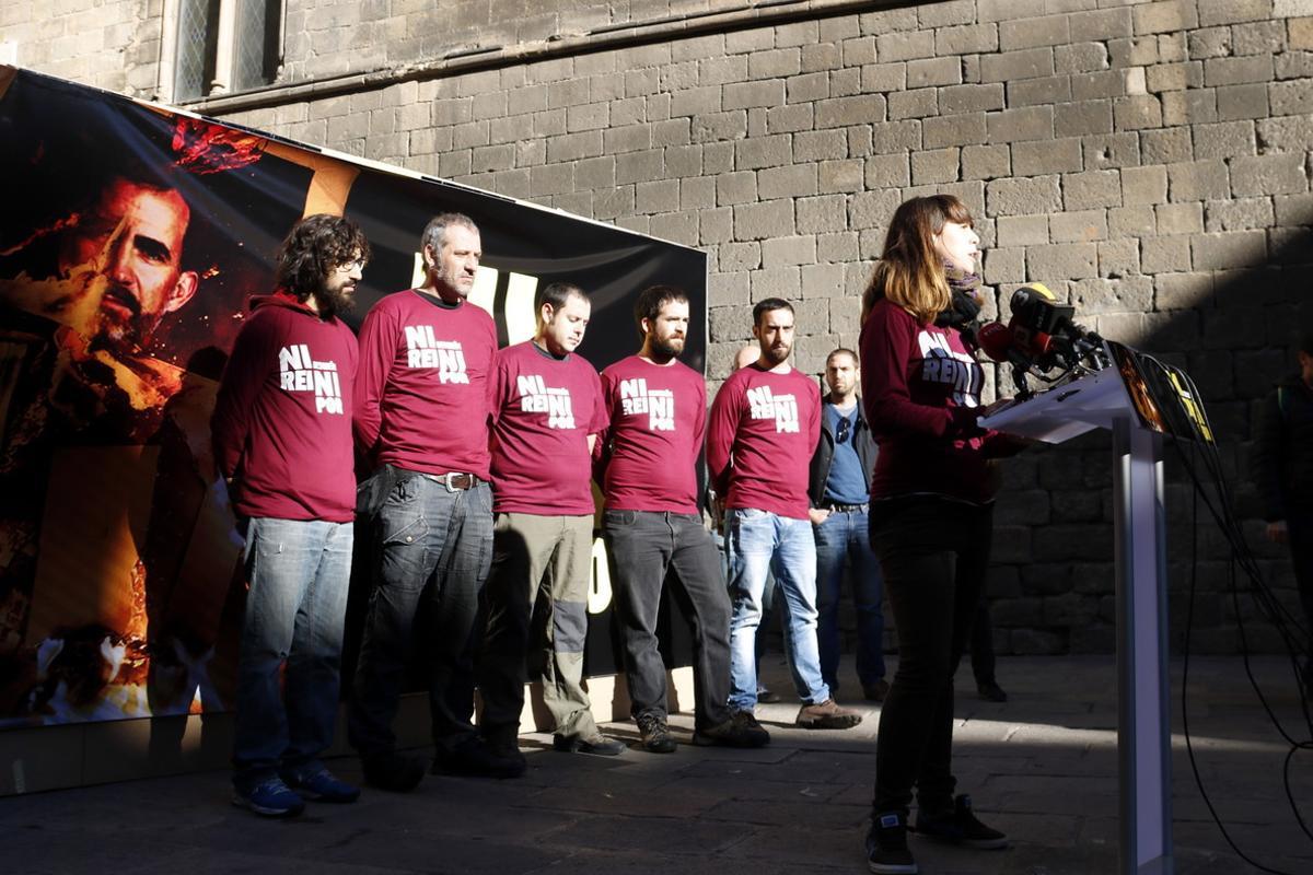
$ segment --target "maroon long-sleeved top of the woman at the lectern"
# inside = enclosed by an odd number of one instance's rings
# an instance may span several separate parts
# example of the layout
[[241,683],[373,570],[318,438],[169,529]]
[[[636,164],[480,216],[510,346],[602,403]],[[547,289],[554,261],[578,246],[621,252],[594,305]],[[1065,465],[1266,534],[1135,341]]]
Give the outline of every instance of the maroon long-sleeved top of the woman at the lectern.
[[923,325],[880,300],[861,327],[859,346],[861,401],[880,443],[871,497],[993,499],[986,460],[1015,453],[1018,445],[976,425],[985,378],[957,329]]

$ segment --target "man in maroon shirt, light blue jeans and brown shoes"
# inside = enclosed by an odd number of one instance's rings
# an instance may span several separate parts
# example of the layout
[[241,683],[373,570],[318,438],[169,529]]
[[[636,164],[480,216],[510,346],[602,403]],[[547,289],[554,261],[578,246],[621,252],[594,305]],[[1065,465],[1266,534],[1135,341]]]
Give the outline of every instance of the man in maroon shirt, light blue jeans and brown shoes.
[[807,519],[807,467],[821,433],[821,392],[789,366],[793,307],[767,298],[752,308],[760,358],[734,371],[712,404],[706,466],[725,496],[729,554],[730,708],[756,725],[756,630],[765,576],[784,596],[784,643],[802,708],[797,724],[847,729],[861,722],[839,707],[821,677],[817,649],[817,555]]

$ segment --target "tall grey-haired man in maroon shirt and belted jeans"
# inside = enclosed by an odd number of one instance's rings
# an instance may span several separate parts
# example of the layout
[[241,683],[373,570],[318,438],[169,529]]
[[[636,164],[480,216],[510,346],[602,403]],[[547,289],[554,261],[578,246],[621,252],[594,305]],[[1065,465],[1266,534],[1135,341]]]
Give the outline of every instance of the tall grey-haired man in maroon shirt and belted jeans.
[[469,302],[479,230],[444,213],[424,228],[420,251],[424,285],[387,295],[365,317],[356,378],[356,442],[378,466],[362,491],[379,508],[349,736],[365,781],[395,791],[424,775],[423,762],[397,752],[391,728],[416,649],[428,673],[433,771],[524,771],[523,760],[490,753],[473,724],[475,618],[492,555],[487,392],[496,356],[492,317]]

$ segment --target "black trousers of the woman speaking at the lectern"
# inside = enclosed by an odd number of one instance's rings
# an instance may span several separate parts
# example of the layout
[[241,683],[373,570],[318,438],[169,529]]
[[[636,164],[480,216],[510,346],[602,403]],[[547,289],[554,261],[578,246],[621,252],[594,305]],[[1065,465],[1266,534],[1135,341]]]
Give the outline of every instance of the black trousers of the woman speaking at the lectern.
[[871,505],[871,548],[898,628],[898,670],[876,741],[877,813],[951,805],[953,672],[989,565],[991,505],[915,496]]

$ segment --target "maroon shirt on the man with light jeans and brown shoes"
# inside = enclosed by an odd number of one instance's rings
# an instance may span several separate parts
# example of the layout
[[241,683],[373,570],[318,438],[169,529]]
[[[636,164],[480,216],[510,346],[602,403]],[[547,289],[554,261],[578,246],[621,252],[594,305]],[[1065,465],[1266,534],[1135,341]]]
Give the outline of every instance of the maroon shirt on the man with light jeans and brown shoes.
[[727,508],[807,518],[807,471],[821,438],[821,390],[797,370],[741,367],[706,426],[706,467]]

